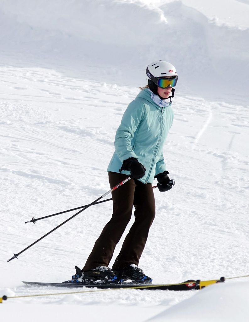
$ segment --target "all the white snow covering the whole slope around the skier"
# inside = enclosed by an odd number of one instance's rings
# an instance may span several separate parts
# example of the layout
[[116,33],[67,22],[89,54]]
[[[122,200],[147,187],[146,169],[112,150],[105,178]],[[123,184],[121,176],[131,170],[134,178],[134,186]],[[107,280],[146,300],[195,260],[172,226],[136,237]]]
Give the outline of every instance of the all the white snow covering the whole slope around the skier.
[[[24,222],[109,190],[116,128],[156,59],[180,75],[164,146],[176,185],[154,191],[156,219],[140,267],[154,283],[248,274],[248,1],[2,0],[0,17],[0,296],[59,293],[21,281],[61,282],[83,266],[111,202],[6,261],[73,213]],[[121,321],[159,313],[181,321],[193,311],[192,321],[234,321],[234,310],[243,321],[247,286],[245,278],[201,291],[10,298],[0,309],[10,321],[14,311],[28,321],[41,309],[37,319],[68,321],[82,306],[93,321],[121,310]]]

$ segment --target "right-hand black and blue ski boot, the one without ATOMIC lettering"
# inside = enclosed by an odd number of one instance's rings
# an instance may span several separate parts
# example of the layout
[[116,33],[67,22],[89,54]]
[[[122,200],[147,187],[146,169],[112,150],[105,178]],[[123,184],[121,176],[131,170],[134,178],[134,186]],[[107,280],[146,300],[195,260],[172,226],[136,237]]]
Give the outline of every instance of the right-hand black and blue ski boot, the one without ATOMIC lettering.
[[138,268],[135,264],[122,267],[119,270],[114,270],[118,279],[132,280],[134,283],[151,284],[152,279],[146,276],[141,268]]

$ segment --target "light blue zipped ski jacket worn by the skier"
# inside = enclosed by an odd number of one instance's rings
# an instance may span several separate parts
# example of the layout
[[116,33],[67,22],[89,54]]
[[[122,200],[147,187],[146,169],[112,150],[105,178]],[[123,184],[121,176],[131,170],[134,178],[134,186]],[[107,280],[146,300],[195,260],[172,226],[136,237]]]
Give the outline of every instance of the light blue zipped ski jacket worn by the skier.
[[[152,99],[157,98],[157,103]],[[134,157],[145,166],[139,181],[152,183],[154,176],[165,171],[162,148],[172,126],[171,103],[161,101],[149,89],[142,90],[128,105],[115,136],[115,152],[107,171],[119,173],[123,161]],[[129,175],[129,171],[122,171]]]

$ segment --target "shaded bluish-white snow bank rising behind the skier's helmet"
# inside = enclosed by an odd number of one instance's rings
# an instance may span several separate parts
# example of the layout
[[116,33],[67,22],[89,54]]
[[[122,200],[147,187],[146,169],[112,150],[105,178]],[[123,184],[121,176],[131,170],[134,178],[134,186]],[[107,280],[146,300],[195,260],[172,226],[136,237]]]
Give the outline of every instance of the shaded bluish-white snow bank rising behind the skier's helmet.
[[[25,63],[53,62],[58,71],[132,86],[143,85],[145,66],[161,59],[177,66],[180,90],[202,94],[206,87],[218,87],[223,94],[234,88],[243,93],[249,81],[249,29],[210,20],[185,3],[3,1],[2,56],[9,61],[14,52]],[[233,7],[246,15],[247,5],[233,0]],[[231,80],[238,75],[239,84]]]

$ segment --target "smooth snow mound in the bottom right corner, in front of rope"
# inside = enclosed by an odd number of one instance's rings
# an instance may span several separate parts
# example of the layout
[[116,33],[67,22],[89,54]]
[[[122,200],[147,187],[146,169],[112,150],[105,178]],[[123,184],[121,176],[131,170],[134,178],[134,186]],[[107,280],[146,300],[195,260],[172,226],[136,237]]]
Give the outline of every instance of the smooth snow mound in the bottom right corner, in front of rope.
[[249,281],[214,284],[147,321],[248,321]]

